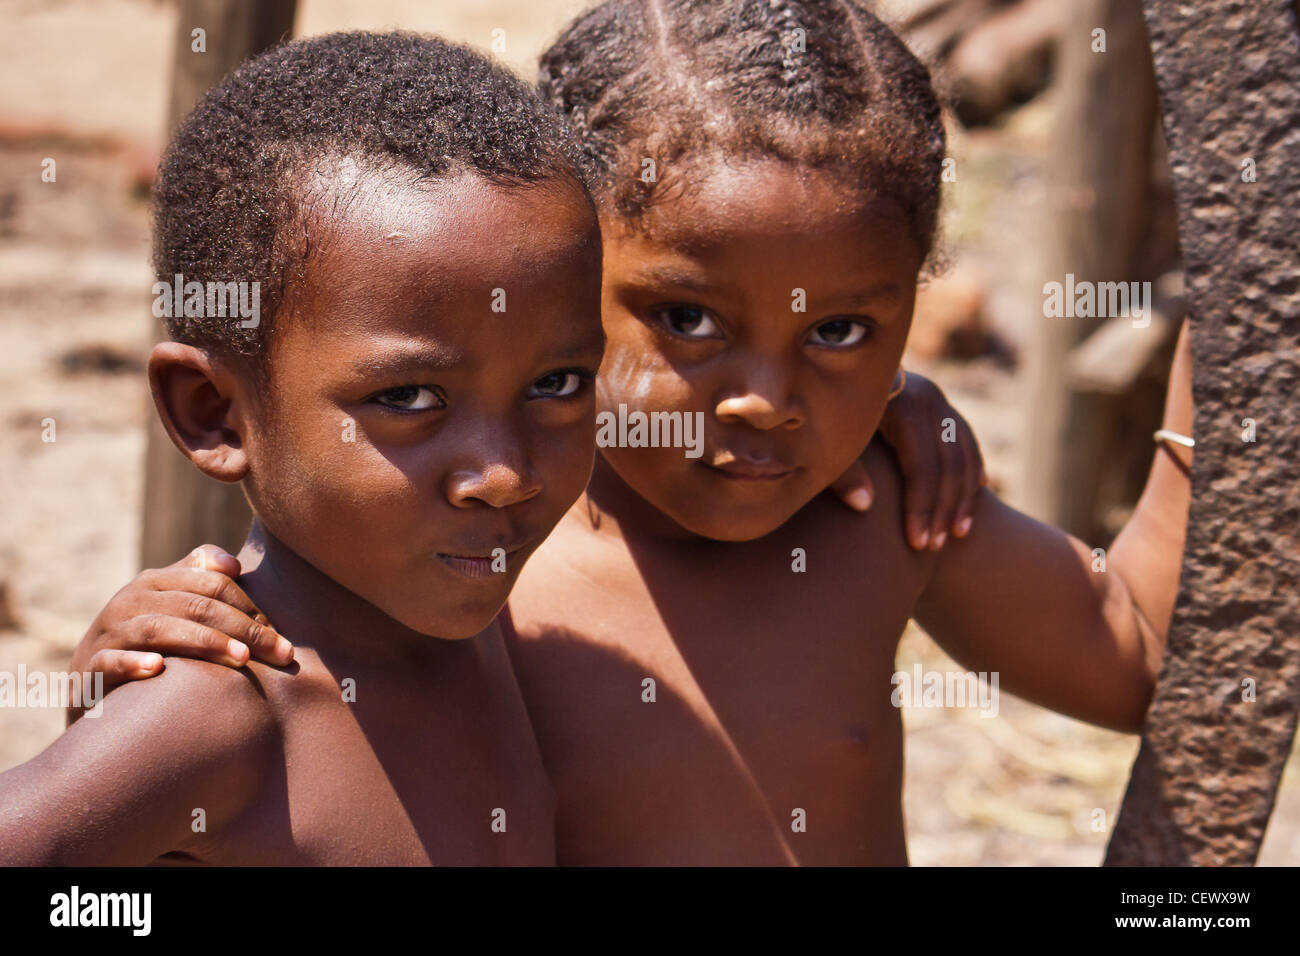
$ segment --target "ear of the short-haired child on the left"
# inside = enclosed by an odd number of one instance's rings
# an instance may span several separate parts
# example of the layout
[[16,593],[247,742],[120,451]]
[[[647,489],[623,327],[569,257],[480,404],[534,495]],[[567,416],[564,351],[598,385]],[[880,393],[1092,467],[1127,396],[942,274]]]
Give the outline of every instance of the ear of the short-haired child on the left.
[[217,481],[248,475],[243,420],[233,415],[239,384],[200,349],[161,342],[150,352],[150,390],[162,427],[194,466]]

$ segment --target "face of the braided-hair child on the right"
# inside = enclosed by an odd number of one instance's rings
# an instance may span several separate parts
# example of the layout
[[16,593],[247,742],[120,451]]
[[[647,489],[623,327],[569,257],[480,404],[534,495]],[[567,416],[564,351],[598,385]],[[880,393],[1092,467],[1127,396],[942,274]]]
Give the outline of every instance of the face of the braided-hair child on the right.
[[703,412],[703,455],[603,447],[684,529],[775,531],[862,453],[911,324],[920,250],[901,209],[777,160],[714,164],[602,220],[599,411]]

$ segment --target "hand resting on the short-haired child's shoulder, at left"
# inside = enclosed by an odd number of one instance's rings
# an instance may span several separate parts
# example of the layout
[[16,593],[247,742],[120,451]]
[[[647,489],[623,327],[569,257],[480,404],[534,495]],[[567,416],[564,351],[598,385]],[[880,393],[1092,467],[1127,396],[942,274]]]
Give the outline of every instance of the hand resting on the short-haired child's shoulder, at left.
[[235,584],[239,572],[239,561],[216,545],[140,571],[91,623],[72,669],[103,674],[104,685],[116,687],[160,674],[162,654],[229,667],[242,667],[250,657],[289,663],[292,644]]

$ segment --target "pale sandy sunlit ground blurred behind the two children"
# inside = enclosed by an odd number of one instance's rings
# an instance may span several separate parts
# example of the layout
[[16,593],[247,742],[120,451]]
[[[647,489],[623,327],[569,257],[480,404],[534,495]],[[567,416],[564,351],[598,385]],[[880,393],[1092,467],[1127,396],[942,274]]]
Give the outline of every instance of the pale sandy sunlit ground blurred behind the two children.
[[[296,33],[403,26],[486,47],[525,74],[581,0],[306,0]],[[169,5],[144,0],[0,0],[0,583],[16,622],[0,671],[61,669],[99,607],[136,570],[150,346],[148,207],[165,104]],[[1050,98],[996,131],[958,134],[967,174],[948,233],[989,281],[989,321],[1014,349],[1028,334],[1035,190]],[[42,182],[42,161],[57,179]],[[931,375],[975,427],[1014,503],[1027,450],[1015,368],[982,359],[909,367]],[[57,440],[42,441],[53,419]],[[0,607],[0,611],[4,609]],[[919,630],[898,669],[959,670]],[[1138,739],[1001,697],[975,709],[904,711],[906,819],[916,865],[1100,862]],[[0,709],[0,770],[58,734],[55,710]],[[124,760],[126,756],[124,754]],[[1292,756],[1261,862],[1300,862]],[[1100,814],[1098,814],[1100,812]]]

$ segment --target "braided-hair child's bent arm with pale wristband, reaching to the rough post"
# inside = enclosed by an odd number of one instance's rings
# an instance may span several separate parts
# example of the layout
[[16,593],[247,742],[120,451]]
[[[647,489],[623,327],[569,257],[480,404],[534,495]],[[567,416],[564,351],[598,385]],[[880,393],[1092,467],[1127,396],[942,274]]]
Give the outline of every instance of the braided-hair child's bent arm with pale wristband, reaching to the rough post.
[[[1165,428],[1190,434],[1187,329]],[[1182,455],[1180,458],[1178,455]],[[1190,451],[1161,445],[1134,516],[1105,557],[984,493],[970,536],[937,555],[916,620],[963,666],[1102,727],[1138,732],[1178,596],[1191,503]]]

